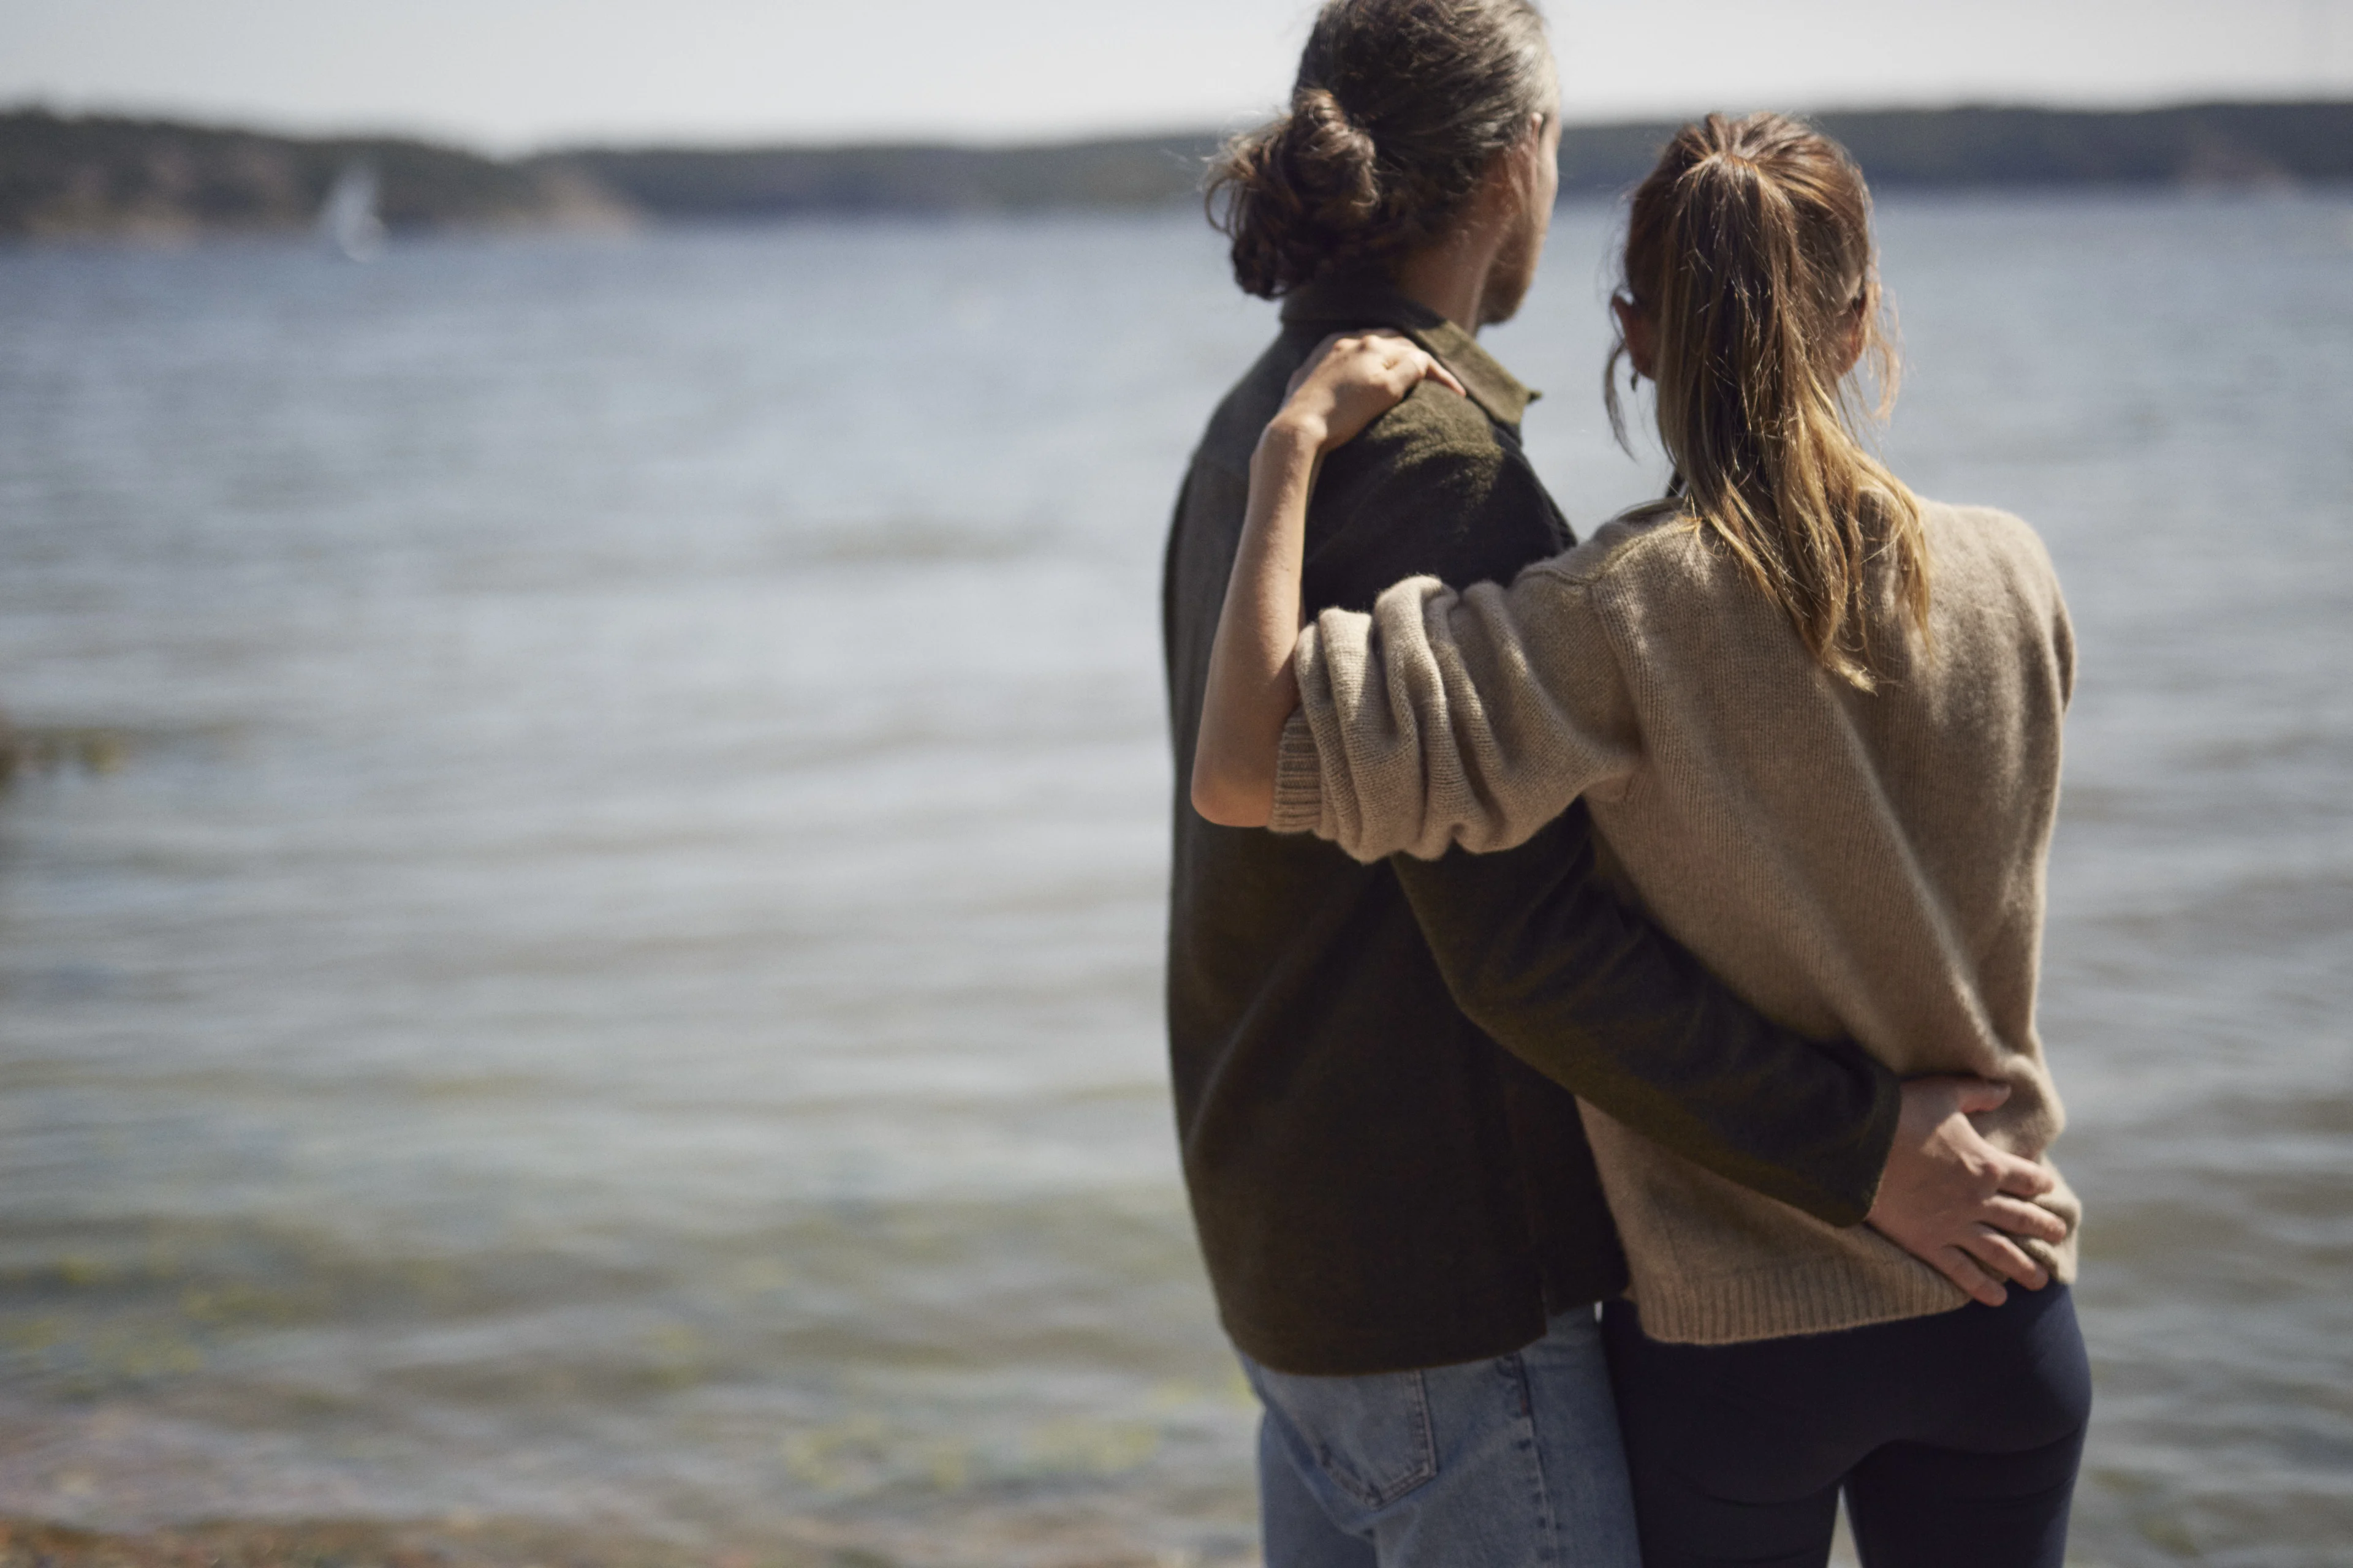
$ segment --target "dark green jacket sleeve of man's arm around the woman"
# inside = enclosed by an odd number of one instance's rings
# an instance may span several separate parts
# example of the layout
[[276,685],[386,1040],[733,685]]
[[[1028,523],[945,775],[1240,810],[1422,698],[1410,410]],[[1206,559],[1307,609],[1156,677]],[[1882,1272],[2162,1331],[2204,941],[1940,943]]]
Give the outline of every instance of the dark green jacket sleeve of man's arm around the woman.
[[[1322,592],[1311,583],[1311,602],[1365,607],[1421,571],[1457,588],[1508,578],[1565,548],[1534,473],[1485,421],[1464,423],[1459,400],[1424,390],[1398,414],[1327,463],[1308,567],[1313,578],[1322,543],[1346,571]],[[1513,1056],[1744,1187],[1831,1225],[1871,1211],[1897,1077],[1852,1044],[1769,1023],[1619,903],[1584,804],[1508,853],[1391,865],[1454,1004]]]

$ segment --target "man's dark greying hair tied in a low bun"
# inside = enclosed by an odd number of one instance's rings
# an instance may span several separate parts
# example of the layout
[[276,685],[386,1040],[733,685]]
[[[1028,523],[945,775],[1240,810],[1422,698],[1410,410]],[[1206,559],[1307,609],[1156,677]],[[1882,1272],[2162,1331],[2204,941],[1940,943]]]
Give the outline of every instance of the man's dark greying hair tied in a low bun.
[[1431,240],[1555,94],[1532,0],[1332,0],[1289,113],[1209,169],[1233,280],[1273,299]]

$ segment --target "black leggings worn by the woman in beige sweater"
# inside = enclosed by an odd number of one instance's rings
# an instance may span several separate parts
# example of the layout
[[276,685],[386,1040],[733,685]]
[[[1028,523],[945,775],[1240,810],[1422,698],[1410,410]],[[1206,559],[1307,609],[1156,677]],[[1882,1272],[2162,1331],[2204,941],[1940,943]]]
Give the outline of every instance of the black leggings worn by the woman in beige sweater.
[[1645,1568],[1821,1568],[1838,1493],[1864,1568],[2061,1568],[2092,1413],[2066,1286],[1746,1345],[1602,1312]]

